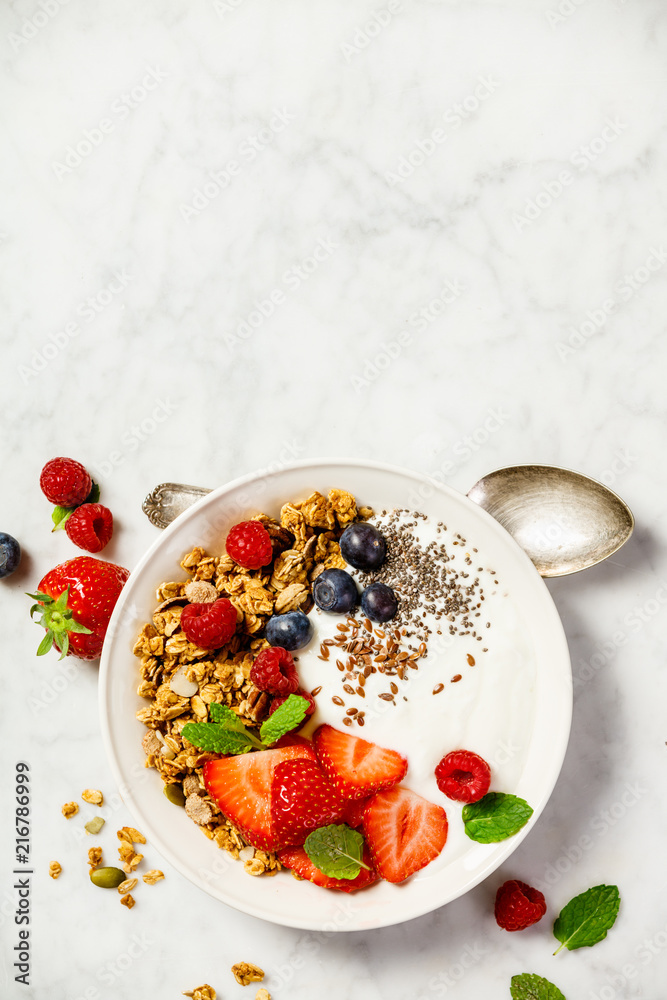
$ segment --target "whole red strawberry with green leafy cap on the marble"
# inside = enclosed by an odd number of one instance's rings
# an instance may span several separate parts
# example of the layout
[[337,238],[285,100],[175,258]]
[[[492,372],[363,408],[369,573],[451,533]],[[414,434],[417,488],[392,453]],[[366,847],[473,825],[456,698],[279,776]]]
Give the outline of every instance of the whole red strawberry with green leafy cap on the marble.
[[63,656],[96,660],[102,652],[111,613],[130,571],[91,556],[77,556],[56,566],[39,583],[31,616],[46,629],[37,655],[52,646]]

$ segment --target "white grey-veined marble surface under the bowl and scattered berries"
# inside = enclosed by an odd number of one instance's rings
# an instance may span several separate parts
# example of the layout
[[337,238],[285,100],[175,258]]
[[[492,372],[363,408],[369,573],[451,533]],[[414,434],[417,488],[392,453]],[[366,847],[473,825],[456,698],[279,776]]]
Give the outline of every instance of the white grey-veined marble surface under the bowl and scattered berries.
[[[523,971],[568,1000],[661,995],[664,4],[13,0],[0,39],[0,528],[24,547],[0,584],[0,994],[166,1000],[210,983],[254,997],[229,971],[247,960],[275,1000],[504,998]],[[81,816],[60,806],[104,790],[109,858],[130,822],[97,669],[36,660],[24,596],[73,555],[37,486],[62,454],[99,479],[117,523],[105,555],[128,567],[155,537],[140,505],[156,483],[294,459],[380,459],[462,491],[540,462],[617,490],[631,542],[549,584],[573,729],[510,862],[367,933],[246,917],[150,845],[166,879],[134,910],[93,892]],[[33,792],[29,986],[13,968],[18,761]],[[514,935],[492,915],[511,877],[549,905]],[[600,882],[620,887],[616,926],[552,958],[549,918]]]

